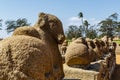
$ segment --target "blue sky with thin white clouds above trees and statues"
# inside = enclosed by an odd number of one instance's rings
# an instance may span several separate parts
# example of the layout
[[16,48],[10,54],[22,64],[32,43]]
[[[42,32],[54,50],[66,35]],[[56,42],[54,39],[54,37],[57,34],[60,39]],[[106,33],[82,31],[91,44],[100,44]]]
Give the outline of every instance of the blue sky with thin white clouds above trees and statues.
[[99,23],[115,12],[120,14],[120,0],[0,0],[0,19],[3,20],[0,38],[11,35],[5,30],[5,21],[26,18],[34,25],[40,12],[57,16],[66,31],[69,25],[81,24],[79,12],[83,13],[84,19],[91,25]]

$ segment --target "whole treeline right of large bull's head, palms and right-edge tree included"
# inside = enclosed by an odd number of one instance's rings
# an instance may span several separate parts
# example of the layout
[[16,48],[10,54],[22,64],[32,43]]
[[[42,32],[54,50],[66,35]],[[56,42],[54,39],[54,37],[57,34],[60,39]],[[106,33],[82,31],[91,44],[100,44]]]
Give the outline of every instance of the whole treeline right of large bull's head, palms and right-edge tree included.
[[[105,20],[98,23],[99,29],[96,26],[90,26],[87,20],[83,20],[83,13],[80,12],[78,17],[81,19],[82,24],[77,26],[69,26],[66,36],[68,39],[77,38],[78,36],[88,37],[94,39],[96,37],[101,38],[105,35],[108,37],[113,37],[115,35],[120,35],[120,22],[118,20],[118,14],[113,13]],[[99,36],[98,36],[99,35]]]

